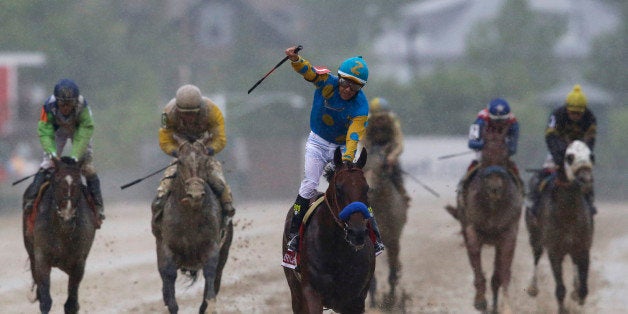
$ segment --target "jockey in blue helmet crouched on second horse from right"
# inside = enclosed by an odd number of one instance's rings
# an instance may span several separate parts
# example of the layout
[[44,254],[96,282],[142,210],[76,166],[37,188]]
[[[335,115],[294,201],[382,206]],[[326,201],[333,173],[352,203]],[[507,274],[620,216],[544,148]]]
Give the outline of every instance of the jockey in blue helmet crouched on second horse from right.
[[[472,174],[478,168],[481,163],[482,148],[484,148],[483,133],[486,130],[493,128],[508,127],[506,133],[506,145],[508,146],[509,156],[514,155],[517,152],[517,142],[519,140],[519,122],[517,118],[510,111],[510,105],[505,99],[495,98],[491,100],[488,106],[478,112],[475,122],[469,128],[469,148],[476,152],[476,157],[471,161],[471,164],[467,168],[467,173],[464,175],[460,183],[458,184],[458,199],[463,199],[463,195],[466,192],[467,184],[472,177]],[[508,171],[517,179],[517,184],[523,188],[521,178],[519,177],[519,170],[517,165],[508,159]],[[459,202],[463,204],[463,202]]]

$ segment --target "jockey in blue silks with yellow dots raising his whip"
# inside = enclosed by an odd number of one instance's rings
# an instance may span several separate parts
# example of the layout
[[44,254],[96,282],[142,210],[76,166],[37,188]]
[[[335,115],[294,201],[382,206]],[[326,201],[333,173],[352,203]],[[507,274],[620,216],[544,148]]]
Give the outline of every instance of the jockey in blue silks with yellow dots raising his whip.
[[[334,150],[344,150],[342,159],[352,162],[358,141],[365,132],[368,118],[368,101],[362,87],[368,79],[368,66],[361,56],[342,62],[338,76],[325,68],[313,67],[308,60],[286,49],[292,68],[316,86],[310,114],[310,134],[305,146],[305,178],[293,205],[294,215],[288,235],[288,251],[282,266],[296,268],[299,228],[310,205],[310,198],[318,194],[317,188],[325,165],[333,160]],[[375,217],[369,219],[376,235],[375,254],[384,250]]]

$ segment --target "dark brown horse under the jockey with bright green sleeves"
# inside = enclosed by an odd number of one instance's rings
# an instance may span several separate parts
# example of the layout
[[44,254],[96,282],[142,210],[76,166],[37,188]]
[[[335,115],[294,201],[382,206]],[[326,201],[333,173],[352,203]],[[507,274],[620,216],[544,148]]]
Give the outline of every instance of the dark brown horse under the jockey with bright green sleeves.
[[30,261],[33,288],[36,288],[35,301],[39,300],[41,313],[49,313],[52,307],[50,271],[53,267],[68,275],[65,313],[78,313],[79,286],[94,242],[97,217],[82,183],[82,161],[70,157],[52,160],[54,170],[50,181],[40,190],[32,211],[24,212],[24,246]]

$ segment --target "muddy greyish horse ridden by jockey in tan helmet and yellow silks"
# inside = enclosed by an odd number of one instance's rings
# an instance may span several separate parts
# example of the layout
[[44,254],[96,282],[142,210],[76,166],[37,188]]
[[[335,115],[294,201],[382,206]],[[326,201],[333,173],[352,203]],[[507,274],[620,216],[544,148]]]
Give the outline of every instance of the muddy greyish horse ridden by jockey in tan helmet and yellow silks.
[[199,313],[213,312],[233,239],[233,224],[230,222],[221,236],[220,203],[207,181],[201,178],[211,171],[203,141],[192,142],[177,136],[175,139],[179,153],[172,191],[164,204],[161,224],[153,226],[163,300],[170,313],[177,313],[177,271],[191,278],[193,284],[202,270],[205,287]]

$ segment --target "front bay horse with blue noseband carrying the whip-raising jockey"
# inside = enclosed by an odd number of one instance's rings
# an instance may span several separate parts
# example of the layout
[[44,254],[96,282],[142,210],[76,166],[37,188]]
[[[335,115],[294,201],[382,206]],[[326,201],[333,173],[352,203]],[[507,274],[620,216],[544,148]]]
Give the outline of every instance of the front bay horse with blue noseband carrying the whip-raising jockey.
[[[362,167],[366,150],[356,163],[343,162],[334,153],[334,170],[326,177],[324,200],[306,214],[299,245],[297,269],[284,268],[294,313],[322,313],[323,307],[339,313],[363,313],[375,271],[375,252],[369,241],[368,184]],[[315,203],[316,204],[316,203]],[[293,211],[288,210],[283,254]],[[309,218],[308,218],[309,216]]]

